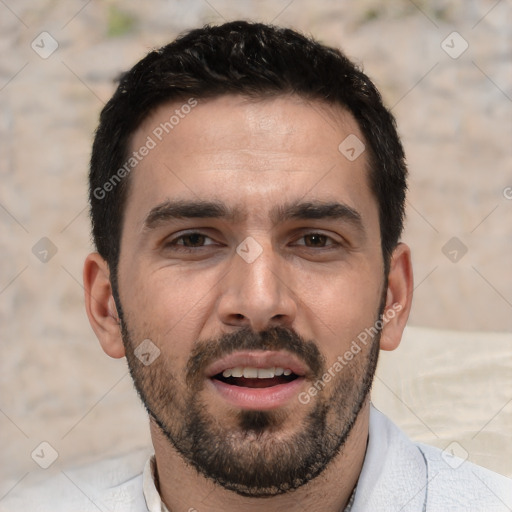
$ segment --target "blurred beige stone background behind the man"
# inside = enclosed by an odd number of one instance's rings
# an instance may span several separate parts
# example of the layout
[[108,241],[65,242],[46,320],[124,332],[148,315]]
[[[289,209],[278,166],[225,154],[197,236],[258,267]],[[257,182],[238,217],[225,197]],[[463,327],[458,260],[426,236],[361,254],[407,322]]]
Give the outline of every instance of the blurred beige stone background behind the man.
[[120,72],[238,18],[340,47],[382,92],[408,157],[416,289],[374,402],[411,437],[512,476],[509,1],[0,0],[0,506],[68,465],[149,449],[126,363],[83,305],[91,141]]

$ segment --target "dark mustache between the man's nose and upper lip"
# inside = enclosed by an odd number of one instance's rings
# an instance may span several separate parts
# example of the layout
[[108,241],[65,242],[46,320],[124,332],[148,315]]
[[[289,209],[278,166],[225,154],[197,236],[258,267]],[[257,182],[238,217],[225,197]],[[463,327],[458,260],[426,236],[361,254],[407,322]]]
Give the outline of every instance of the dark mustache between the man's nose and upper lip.
[[198,381],[202,381],[206,367],[212,362],[241,350],[286,350],[307,364],[314,376],[325,373],[325,358],[316,343],[305,340],[293,329],[277,326],[254,332],[250,327],[243,327],[218,338],[196,343],[186,366],[188,386],[196,387]]

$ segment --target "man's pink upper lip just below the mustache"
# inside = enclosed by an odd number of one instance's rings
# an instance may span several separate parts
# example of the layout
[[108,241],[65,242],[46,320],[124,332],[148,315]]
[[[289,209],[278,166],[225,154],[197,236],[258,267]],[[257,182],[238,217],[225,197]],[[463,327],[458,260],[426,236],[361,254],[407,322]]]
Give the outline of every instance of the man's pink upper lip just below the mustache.
[[233,352],[217,359],[206,368],[207,377],[213,377],[228,368],[288,368],[295,375],[303,377],[308,372],[307,366],[290,352],[272,350],[251,350]]

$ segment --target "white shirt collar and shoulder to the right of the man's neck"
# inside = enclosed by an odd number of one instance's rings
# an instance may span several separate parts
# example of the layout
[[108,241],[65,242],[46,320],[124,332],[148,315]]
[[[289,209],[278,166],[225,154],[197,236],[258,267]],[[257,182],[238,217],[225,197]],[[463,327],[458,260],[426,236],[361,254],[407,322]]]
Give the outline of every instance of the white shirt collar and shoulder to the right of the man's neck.
[[373,406],[353,512],[511,512],[512,481],[417,443]]

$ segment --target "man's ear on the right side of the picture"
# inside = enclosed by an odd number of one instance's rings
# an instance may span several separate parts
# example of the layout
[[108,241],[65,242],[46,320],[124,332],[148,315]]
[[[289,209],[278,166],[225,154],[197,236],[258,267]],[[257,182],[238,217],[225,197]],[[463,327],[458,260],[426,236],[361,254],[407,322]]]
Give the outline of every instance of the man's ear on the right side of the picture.
[[411,311],[413,275],[411,250],[406,244],[396,246],[391,256],[388,274],[386,306],[383,312],[384,326],[380,338],[381,350],[395,350]]

